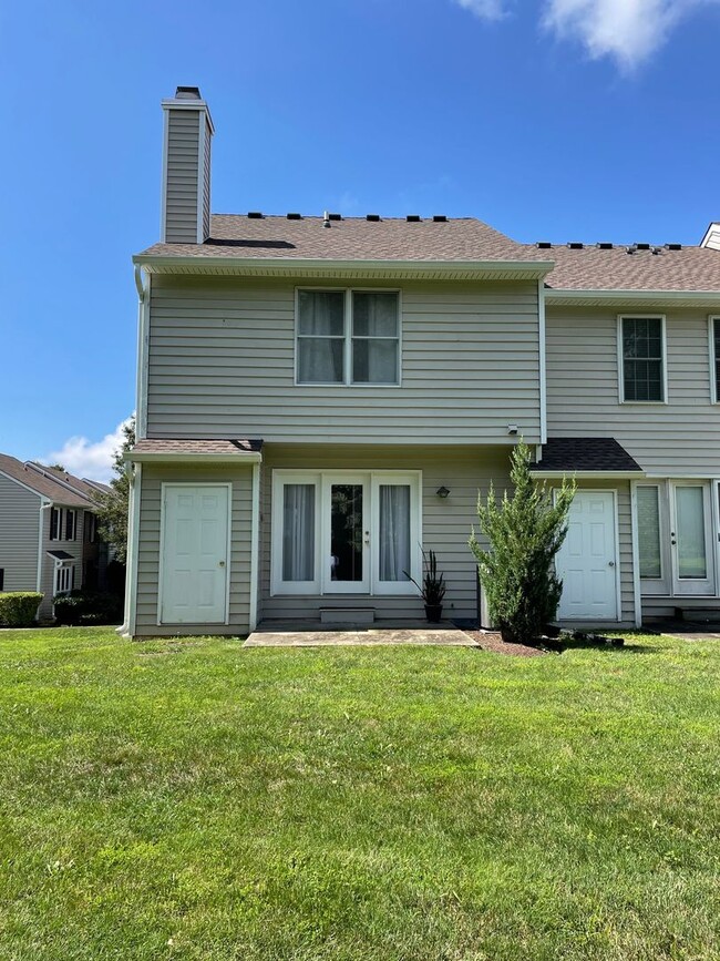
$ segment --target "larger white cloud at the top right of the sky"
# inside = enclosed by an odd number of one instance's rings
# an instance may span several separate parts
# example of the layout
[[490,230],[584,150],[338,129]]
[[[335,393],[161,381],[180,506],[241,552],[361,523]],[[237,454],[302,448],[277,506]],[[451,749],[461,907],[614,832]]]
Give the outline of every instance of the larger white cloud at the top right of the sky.
[[680,20],[717,0],[546,0],[543,23],[562,40],[577,40],[589,55],[614,58],[630,71],[668,39]]

